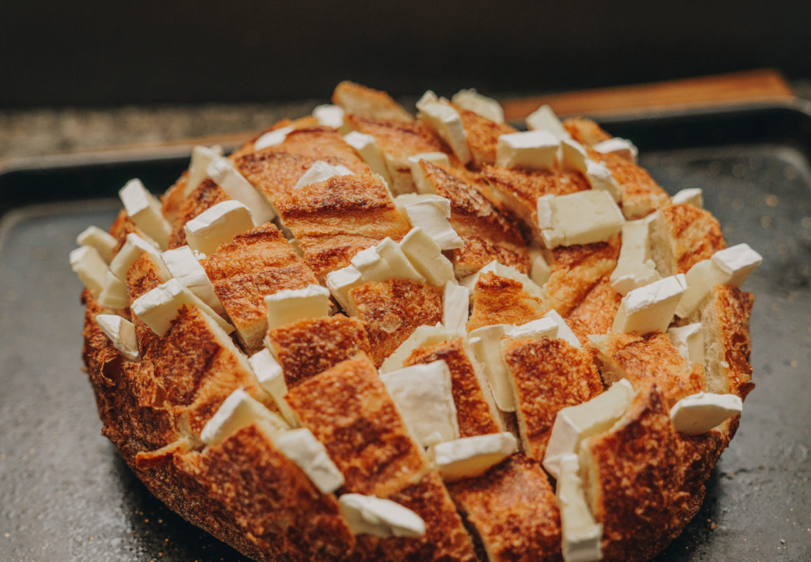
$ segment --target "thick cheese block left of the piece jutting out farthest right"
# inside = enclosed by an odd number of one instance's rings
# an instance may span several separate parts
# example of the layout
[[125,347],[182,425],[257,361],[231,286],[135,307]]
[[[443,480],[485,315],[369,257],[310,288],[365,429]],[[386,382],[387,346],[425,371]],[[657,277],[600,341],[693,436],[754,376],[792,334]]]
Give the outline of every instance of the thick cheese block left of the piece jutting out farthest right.
[[684,273],[665,277],[626,294],[616,311],[612,332],[667,332],[676,305],[687,289]]

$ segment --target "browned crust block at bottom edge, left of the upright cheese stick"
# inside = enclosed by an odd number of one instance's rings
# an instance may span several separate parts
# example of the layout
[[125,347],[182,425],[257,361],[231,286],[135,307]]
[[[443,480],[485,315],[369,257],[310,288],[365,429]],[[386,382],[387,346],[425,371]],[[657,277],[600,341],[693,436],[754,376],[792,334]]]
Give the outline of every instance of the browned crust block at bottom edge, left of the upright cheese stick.
[[535,461],[517,453],[448,489],[491,562],[561,560],[555,492]]

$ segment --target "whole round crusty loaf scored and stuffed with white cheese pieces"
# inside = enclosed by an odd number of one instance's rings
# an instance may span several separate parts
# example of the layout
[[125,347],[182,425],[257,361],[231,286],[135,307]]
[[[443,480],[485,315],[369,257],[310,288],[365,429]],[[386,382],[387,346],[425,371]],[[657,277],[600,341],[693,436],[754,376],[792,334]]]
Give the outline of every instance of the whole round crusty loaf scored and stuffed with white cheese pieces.
[[662,551],[753,388],[760,255],[594,122],[333,102],[79,234],[104,435],[255,560]]

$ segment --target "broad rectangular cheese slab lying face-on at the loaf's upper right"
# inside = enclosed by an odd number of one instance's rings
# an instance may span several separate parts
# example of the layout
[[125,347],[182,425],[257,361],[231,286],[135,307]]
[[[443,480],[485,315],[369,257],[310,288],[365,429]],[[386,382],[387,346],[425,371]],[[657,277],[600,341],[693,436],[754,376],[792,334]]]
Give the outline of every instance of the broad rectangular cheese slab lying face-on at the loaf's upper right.
[[602,242],[619,233],[624,221],[622,211],[606,191],[538,198],[538,226],[547,248]]

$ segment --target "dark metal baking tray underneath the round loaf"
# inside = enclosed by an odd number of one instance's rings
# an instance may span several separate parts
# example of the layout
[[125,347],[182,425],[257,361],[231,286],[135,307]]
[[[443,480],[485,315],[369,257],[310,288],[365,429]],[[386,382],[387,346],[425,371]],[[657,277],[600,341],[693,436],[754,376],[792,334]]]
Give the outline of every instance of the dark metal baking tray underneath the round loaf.
[[[702,187],[730,244],[765,258],[745,288],[754,380],[701,511],[657,560],[811,560],[811,112],[796,102],[601,119],[667,191]],[[173,152],[174,150],[174,152]],[[115,192],[162,191],[173,149],[0,171],[0,560],[245,560],[153,498],[101,437],[67,254]]]

